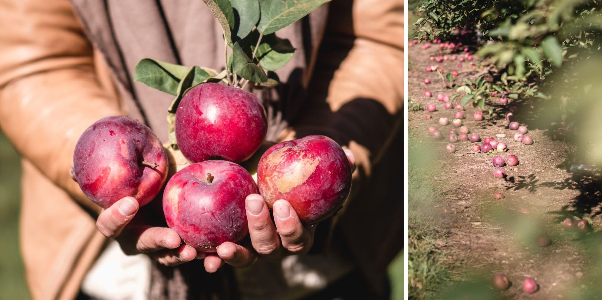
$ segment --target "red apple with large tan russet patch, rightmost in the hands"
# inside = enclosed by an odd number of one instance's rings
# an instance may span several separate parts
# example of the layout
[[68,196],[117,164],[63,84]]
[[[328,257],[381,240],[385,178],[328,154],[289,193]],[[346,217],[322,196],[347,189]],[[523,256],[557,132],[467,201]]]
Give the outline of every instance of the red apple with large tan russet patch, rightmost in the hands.
[[278,143],[259,160],[259,193],[270,207],[287,200],[306,224],[336,213],[349,195],[352,169],[343,148],[325,136]]

